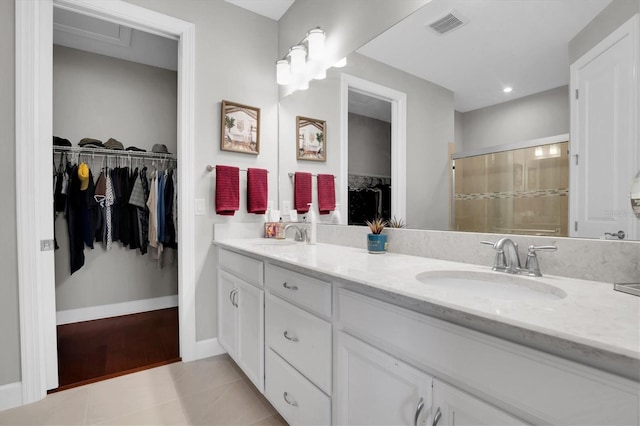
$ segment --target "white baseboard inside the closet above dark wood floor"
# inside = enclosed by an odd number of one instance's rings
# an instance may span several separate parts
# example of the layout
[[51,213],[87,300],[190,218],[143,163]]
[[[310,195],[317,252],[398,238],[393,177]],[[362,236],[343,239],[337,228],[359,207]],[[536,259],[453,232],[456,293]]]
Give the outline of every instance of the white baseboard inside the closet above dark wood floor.
[[56,324],[91,321],[120,315],[137,314],[157,309],[178,306],[178,295],[155,297],[153,299],[132,300],[131,302],[113,303],[111,305],[91,306],[89,308],[69,309],[56,312]]

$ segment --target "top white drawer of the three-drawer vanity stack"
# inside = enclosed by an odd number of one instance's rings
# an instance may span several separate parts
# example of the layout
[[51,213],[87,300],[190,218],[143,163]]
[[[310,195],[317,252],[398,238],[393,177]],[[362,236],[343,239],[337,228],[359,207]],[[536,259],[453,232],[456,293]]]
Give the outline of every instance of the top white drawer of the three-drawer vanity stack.
[[278,266],[266,266],[266,286],[305,309],[331,318],[331,283]]

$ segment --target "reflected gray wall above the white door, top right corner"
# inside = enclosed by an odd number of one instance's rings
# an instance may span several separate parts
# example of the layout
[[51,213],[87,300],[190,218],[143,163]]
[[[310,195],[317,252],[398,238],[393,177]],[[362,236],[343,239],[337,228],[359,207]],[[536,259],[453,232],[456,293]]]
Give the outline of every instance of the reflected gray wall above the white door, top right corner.
[[580,59],[636,13],[640,13],[640,1],[613,0],[569,42],[569,63],[572,64]]

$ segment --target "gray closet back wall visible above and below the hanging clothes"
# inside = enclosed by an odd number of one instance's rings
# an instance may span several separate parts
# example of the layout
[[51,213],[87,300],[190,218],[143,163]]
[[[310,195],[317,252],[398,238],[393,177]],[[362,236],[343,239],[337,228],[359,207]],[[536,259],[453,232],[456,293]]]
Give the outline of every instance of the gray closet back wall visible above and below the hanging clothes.
[[[175,153],[176,110],[175,71],[54,46],[54,135],[74,145],[83,137],[113,137],[125,147],[149,151],[154,143],[163,143]],[[97,179],[103,158],[82,160]],[[149,255],[120,243],[110,251],[101,243],[94,250],[85,249],[85,265],[70,275],[69,235],[62,214],[55,224],[60,246],[55,253],[56,310],[177,294],[177,261],[160,269]]]

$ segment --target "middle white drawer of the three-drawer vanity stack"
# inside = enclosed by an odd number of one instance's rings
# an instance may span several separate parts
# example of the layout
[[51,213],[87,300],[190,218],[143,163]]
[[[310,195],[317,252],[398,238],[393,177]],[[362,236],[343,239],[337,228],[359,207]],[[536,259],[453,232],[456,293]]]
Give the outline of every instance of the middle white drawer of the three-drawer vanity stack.
[[267,294],[265,341],[327,394],[331,393],[331,324]]

